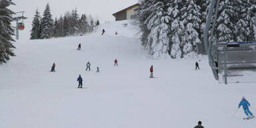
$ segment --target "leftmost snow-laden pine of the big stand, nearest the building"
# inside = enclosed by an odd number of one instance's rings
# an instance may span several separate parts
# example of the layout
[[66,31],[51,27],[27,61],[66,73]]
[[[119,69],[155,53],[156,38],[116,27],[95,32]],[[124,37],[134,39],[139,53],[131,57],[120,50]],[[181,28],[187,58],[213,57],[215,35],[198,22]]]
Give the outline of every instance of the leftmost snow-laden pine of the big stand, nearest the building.
[[[171,17],[168,15],[168,7],[171,2],[169,0],[149,0],[149,3],[143,2],[150,15],[143,21],[147,25],[147,39],[145,41],[145,49],[153,55],[154,59],[167,57],[169,48],[169,34],[171,33],[169,26]],[[143,13],[143,11],[141,11]]]

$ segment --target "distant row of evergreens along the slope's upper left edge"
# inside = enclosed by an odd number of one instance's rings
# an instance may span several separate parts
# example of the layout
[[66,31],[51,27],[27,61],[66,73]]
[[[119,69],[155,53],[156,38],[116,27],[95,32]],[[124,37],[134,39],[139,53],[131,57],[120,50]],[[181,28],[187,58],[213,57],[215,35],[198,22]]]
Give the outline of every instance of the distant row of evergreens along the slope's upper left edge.
[[43,17],[38,9],[32,22],[31,39],[49,39],[51,37],[67,37],[91,33],[99,25],[99,20],[95,21],[91,15],[83,14],[79,17],[77,9],[67,11],[63,16],[52,19],[49,3],[47,4]]

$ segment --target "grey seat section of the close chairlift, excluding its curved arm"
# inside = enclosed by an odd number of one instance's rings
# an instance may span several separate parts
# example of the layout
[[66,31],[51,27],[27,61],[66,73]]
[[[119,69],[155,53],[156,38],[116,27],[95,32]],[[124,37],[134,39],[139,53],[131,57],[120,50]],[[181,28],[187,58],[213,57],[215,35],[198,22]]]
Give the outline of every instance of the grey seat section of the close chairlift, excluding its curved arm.
[[255,82],[256,42],[217,44],[218,76],[220,83]]

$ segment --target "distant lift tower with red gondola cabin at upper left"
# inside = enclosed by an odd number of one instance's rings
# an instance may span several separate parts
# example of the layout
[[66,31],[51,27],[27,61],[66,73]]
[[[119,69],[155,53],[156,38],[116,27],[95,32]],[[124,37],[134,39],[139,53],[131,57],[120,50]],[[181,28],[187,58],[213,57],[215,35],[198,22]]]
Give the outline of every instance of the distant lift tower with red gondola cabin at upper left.
[[19,40],[19,30],[25,29],[23,20],[27,19],[27,17],[24,16],[24,13],[25,13],[25,11],[17,12],[17,13],[15,13],[15,15],[21,14],[21,16],[13,17],[13,20],[16,21],[16,39],[17,40]]

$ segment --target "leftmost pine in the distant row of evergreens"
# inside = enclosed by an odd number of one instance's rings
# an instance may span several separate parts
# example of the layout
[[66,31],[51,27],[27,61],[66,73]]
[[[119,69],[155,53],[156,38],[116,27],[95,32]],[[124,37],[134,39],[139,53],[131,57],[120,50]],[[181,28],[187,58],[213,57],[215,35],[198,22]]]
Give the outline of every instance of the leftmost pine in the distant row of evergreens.
[[31,37],[30,39],[39,39],[41,34],[40,30],[40,13],[38,9],[35,11],[35,15],[32,21]]

